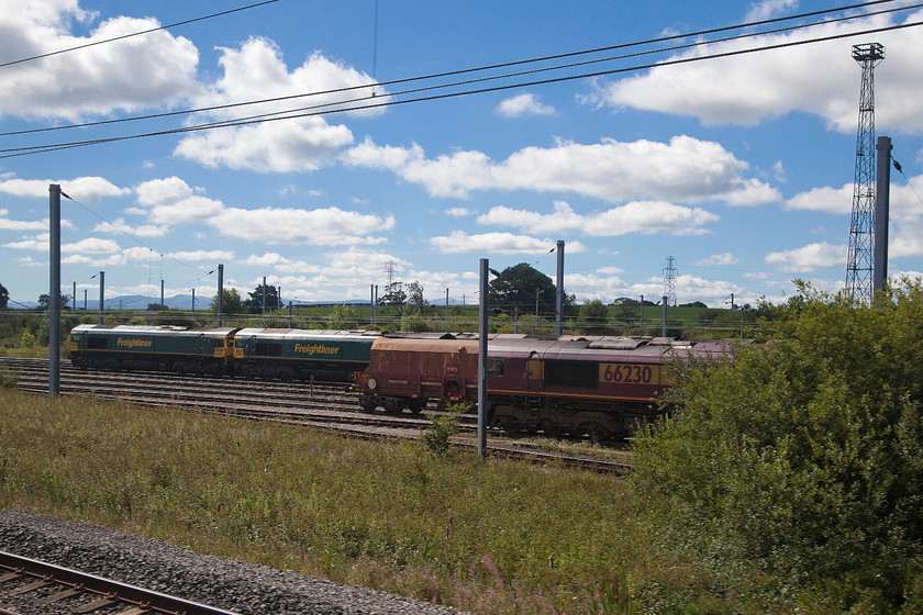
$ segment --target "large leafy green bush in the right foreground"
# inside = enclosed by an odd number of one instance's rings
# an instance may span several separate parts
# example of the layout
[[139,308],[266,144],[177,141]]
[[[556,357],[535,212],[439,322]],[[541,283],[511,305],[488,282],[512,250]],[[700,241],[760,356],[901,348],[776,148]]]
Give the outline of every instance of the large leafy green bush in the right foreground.
[[923,583],[923,288],[877,308],[800,290],[769,344],[675,374],[681,410],[637,440],[631,484],[729,575],[897,612]]

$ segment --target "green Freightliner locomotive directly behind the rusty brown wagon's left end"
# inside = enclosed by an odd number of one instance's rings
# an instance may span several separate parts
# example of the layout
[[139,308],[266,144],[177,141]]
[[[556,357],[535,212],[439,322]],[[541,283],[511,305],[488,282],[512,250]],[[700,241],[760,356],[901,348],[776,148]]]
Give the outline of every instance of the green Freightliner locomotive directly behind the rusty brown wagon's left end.
[[279,379],[353,381],[368,366],[378,332],[243,328],[234,336],[237,374]]

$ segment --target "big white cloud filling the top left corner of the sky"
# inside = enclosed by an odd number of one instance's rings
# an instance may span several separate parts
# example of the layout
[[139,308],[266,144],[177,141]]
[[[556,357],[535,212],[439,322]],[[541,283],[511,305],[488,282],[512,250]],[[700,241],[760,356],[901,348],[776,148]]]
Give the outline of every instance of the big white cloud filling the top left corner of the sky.
[[[89,36],[71,34],[75,20],[89,24],[94,19],[77,0],[3,0],[0,38],[4,55],[31,57],[160,25],[153,18],[116,16],[98,24]],[[8,66],[0,115],[76,121],[177,103],[199,89],[198,62],[198,49],[190,41],[162,30]]]

